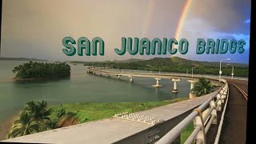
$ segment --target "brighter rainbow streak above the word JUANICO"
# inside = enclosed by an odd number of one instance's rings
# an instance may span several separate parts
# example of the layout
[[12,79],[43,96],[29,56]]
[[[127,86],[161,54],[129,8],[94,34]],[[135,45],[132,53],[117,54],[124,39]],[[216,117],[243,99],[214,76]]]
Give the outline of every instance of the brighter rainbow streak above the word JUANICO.
[[186,18],[186,13],[187,13],[187,11],[188,11],[189,8],[190,8],[191,1],[192,1],[192,0],[186,0],[185,6],[183,7],[183,10],[182,10],[182,15],[181,15],[181,17],[178,19],[178,27],[177,27],[177,29],[176,29],[176,31],[175,31],[175,34],[174,34],[174,38],[175,38],[177,41],[178,41],[179,35],[181,34],[182,26],[183,26],[184,20],[185,20],[185,18]]

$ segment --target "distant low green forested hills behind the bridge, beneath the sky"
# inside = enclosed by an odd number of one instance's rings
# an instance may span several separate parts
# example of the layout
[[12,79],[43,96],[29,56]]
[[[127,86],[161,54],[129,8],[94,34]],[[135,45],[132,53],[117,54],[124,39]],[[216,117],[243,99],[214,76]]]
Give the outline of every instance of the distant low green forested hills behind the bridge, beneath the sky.
[[[127,60],[126,60],[127,61]],[[130,70],[152,70],[166,71],[191,74],[194,67],[194,74],[216,74],[219,71],[219,62],[198,62],[184,58],[152,58],[149,60],[141,60],[137,62],[84,62],[86,66],[108,66],[114,69],[130,69]],[[226,62],[222,62],[222,75],[231,74],[231,66],[227,66]],[[234,65],[234,76],[248,77],[248,65],[240,63],[232,63]]]

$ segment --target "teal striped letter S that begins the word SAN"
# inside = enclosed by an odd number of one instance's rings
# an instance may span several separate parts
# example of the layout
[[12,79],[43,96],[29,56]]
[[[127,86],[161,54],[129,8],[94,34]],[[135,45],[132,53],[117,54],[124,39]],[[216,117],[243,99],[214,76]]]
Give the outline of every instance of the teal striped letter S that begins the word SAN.
[[[71,44],[68,44],[71,42]],[[76,53],[76,50],[72,44],[76,44],[73,38],[71,37],[65,37],[62,39],[62,45],[65,46],[67,49],[62,49],[63,53],[66,54],[67,56],[73,56]]]

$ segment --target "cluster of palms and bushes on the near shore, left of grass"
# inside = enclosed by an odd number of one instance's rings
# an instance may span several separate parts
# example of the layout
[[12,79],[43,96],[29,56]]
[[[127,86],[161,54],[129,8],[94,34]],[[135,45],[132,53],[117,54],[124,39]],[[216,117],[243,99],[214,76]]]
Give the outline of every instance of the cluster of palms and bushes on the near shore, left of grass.
[[[70,126],[78,123],[75,112],[65,108],[57,110],[47,108],[47,102],[27,102],[19,114],[18,120],[14,122],[13,129],[7,134],[7,138],[15,138],[26,134],[34,134],[44,130],[52,130],[62,126]],[[53,114],[55,114],[53,116]],[[54,118],[51,118],[54,117]]]

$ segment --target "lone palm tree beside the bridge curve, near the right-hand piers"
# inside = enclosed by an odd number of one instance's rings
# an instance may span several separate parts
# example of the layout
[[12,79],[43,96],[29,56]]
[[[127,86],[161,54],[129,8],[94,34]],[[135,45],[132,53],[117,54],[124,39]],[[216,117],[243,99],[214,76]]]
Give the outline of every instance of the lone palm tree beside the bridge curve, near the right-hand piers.
[[196,94],[197,97],[209,94],[214,90],[214,86],[206,78],[199,78],[198,82],[195,82],[192,92]]

